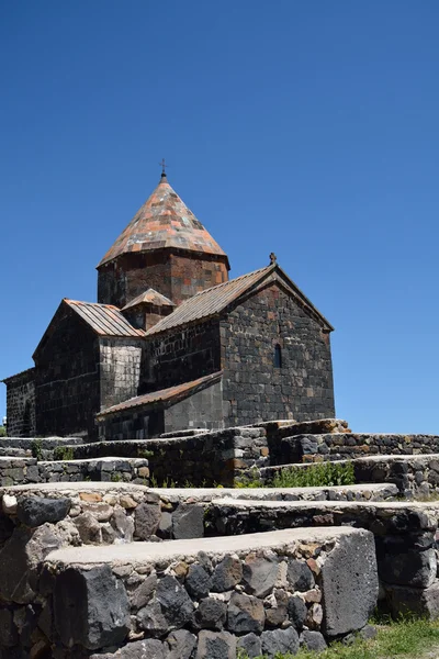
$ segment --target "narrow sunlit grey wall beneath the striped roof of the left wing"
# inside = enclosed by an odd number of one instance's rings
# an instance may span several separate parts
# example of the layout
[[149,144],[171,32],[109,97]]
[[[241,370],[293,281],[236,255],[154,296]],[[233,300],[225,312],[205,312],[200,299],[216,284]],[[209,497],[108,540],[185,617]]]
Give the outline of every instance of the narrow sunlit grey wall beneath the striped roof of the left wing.
[[138,392],[143,342],[100,339],[101,410],[134,398]]

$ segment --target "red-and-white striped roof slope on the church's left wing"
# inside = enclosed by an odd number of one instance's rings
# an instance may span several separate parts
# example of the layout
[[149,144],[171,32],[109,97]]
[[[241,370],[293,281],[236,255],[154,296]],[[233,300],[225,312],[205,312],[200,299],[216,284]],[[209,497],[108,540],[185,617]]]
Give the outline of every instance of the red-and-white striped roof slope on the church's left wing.
[[145,336],[143,330],[136,330],[128,323],[117,306],[95,302],[78,302],[78,300],[68,300],[67,298],[63,302],[101,336]]

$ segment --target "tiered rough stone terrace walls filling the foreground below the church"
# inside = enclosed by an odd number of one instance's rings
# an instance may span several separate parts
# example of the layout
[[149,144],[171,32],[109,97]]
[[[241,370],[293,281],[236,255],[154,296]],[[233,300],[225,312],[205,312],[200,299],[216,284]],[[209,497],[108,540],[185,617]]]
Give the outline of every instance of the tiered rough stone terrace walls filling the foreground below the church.
[[[439,503],[409,500],[436,492],[437,439],[354,435],[339,420],[133,442],[5,438],[0,656],[324,649],[370,634],[379,592],[394,615],[437,617]],[[359,458],[364,446],[374,455]],[[341,455],[356,485],[227,487]]]

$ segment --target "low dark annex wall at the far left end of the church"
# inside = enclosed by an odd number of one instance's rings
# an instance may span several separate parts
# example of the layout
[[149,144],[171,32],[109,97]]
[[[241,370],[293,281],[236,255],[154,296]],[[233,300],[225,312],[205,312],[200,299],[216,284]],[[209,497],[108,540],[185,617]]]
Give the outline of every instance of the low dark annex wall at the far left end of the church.
[[7,378],[8,435],[29,437],[35,434],[35,369]]

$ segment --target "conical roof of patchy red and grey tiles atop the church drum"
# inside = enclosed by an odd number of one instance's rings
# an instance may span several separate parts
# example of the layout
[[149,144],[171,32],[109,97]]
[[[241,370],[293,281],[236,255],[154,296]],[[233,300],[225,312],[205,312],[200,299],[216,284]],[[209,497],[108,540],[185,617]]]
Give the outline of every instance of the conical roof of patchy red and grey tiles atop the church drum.
[[110,247],[99,266],[122,254],[166,247],[227,258],[219,245],[172,190],[166,175],[161,175],[153,194]]

